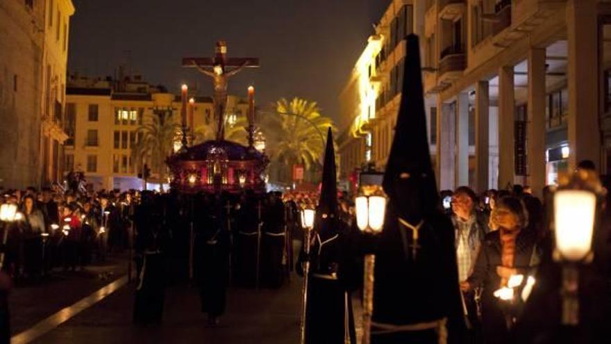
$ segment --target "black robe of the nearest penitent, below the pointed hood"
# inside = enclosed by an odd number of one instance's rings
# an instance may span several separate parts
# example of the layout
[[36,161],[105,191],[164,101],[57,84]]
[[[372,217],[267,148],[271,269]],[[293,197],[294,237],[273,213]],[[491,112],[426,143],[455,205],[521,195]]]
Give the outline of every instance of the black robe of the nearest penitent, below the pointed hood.
[[[412,230],[387,210],[376,247],[371,343],[437,343],[437,331],[391,331],[385,325],[415,325],[447,319],[449,343],[461,343],[462,306],[452,224],[430,215],[419,230],[416,257]],[[380,325],[376,326],[375,323]]]

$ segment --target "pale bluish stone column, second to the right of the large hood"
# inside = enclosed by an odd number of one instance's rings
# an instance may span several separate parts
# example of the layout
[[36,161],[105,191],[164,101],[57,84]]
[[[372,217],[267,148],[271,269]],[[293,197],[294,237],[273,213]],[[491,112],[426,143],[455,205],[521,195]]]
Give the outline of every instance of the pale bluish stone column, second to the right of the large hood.
[[469,94],[456,97],[456,186],[469,186]]

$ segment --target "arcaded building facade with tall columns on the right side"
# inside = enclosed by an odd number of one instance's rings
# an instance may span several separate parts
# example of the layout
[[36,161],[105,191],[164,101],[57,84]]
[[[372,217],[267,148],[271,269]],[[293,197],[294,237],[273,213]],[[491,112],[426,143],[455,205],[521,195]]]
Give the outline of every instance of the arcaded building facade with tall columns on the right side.
[[[389,11],[410,5],[441,189],[522,183],[540,195],[584,159],[607,173],[611,3],[393,1]],[[384,136],[378,144],[387,149]]]

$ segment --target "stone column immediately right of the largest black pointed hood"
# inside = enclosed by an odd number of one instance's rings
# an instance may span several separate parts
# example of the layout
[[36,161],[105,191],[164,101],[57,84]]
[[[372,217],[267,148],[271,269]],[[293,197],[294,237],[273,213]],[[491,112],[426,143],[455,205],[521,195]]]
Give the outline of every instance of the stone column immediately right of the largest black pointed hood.
[[437,99],[437,183],[440,190],[454,189],[455,114],[451,104]]

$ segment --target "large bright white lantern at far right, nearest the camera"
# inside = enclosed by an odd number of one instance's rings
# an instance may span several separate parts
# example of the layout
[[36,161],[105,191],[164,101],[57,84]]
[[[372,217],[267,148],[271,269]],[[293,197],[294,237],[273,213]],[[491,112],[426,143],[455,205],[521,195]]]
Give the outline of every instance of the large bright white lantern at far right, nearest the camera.
[[555,191],[554,259],[562,264],[562,325],[579,324],[579,268],[592,262],[601,184],[594,172],[578,170]]

